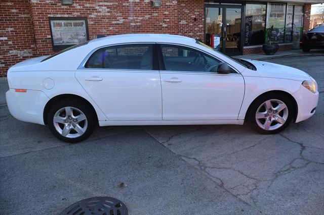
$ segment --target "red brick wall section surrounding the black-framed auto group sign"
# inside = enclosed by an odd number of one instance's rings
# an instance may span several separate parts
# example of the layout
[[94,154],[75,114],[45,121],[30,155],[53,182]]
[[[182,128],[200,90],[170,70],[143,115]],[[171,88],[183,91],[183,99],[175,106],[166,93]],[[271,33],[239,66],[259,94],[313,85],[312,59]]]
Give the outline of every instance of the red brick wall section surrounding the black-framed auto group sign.
[[148,0],[73,0],[72,6],[61,6],[60,0],[31,0],[39,55],[53,52],[48,17],[87,17],[90,39],[96,38],[97,34],[177,34],[177,1],[161,2],[160,8],[153,8]]

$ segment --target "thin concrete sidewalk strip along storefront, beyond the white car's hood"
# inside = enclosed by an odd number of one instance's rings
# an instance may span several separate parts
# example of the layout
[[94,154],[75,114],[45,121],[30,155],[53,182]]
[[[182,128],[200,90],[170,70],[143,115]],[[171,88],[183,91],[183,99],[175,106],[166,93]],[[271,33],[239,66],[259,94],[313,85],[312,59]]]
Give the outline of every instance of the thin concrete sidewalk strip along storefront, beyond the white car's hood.
[[259,53],[254,55],[237,55],[232,57],[251,59],[251,60],[266,60],[266,59],[285,58],[285,57],[292,57],[292,56],[313,56],[313,55],[324,55],[324,50],[313,49],[310,50],[309,52],[303,52],[302,49],[294,49],[294,50],[287,50],[287,51],[277,51],[274,55],[266,55],[265,53]]

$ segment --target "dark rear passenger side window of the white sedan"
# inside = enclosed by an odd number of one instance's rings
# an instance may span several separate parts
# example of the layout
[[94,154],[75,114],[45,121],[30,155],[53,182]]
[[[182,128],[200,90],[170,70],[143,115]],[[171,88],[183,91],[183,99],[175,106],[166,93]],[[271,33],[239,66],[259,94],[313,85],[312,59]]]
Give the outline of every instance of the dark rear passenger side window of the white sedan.
[[118,45],[101,48],[93,53],[86,68],[153,70],[151,44]]

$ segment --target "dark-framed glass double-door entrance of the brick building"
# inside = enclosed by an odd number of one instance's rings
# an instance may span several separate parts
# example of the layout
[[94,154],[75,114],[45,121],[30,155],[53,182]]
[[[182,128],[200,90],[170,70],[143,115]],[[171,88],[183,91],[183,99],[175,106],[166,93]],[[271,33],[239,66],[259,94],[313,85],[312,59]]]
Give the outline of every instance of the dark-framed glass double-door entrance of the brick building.
[[206,44],[226,55],[241,55],[241,6],[205,8]]

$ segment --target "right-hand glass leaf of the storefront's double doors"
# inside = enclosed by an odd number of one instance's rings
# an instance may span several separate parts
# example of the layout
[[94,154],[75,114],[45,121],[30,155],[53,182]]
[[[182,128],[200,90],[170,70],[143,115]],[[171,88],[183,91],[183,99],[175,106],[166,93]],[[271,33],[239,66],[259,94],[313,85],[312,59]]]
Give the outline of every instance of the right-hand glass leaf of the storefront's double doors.
[[226,55],[241,54],[241,8],[226,8],[224,36]]

